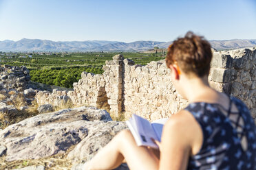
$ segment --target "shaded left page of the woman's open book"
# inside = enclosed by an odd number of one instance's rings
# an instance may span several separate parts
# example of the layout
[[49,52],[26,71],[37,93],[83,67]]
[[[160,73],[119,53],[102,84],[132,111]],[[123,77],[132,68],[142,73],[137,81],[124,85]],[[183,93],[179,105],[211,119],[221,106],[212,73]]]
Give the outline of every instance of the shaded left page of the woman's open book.
[[133,115],[134,120],[136,121],[138,134],[140,135],[140,139],[142,140],[142,145],[146,145],[149,147],[158,148],[156,143],[153,143],[151,138],[158,140],[153,128],[151,127],[151,123],[138,115]]

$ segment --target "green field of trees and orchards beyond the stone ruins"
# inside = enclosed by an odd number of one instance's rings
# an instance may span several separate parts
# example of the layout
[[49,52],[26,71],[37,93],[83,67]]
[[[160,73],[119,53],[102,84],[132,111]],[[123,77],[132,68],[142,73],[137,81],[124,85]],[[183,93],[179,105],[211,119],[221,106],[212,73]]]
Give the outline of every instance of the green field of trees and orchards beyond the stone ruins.
[[[27,66],[33,82],[72,88],[72,84],[81,79],[83,71],[103,73],[105,61],[112,60],[116,54],[118,53],[1,53],[0,64]],[[141,65],[165,58],[165,53],[125,52],[122,55]]]

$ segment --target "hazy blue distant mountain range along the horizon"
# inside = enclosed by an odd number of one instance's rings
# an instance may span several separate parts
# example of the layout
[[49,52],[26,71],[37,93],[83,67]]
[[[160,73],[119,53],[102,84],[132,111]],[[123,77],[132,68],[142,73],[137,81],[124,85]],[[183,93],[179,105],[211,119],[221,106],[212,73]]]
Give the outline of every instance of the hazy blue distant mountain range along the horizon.
[[[217,50],[256,47],[255,40],[210,40]],[[0,51],[145,51],[153,47],[167,48],[170,42],[135,41],[119,42],[107,40],[52,41],[23,38],[18,41],[0,41]]]

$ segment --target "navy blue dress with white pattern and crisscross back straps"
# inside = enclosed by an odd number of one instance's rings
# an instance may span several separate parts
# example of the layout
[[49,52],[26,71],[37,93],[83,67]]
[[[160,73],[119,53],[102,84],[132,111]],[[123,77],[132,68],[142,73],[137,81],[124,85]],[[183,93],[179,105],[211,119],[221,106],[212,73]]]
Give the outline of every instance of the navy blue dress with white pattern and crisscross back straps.
[[[232,103],[239,112],[231,112]],[[189,158],[188,169],[256,170],[256,127],[242,101],[230,97],[228,110],[204,102],[189,104],[185,110],[193,114],[204,135],[200,151]]]

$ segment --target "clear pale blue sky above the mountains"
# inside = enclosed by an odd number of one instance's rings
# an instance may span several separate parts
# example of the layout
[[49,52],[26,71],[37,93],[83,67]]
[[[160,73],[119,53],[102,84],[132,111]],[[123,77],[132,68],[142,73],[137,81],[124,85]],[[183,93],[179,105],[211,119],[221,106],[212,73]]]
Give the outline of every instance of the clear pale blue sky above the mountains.
[[256,0],[0,0],[0,40],[256,39]]

